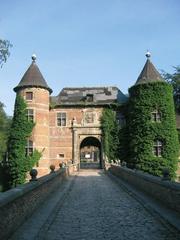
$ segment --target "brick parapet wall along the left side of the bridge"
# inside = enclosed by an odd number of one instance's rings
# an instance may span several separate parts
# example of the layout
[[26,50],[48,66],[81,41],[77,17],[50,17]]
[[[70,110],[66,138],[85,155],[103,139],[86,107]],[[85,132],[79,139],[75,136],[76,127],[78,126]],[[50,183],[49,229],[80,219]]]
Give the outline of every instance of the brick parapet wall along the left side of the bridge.
[[75,164],[0,193],[0,239],[7,239],[74,171]]

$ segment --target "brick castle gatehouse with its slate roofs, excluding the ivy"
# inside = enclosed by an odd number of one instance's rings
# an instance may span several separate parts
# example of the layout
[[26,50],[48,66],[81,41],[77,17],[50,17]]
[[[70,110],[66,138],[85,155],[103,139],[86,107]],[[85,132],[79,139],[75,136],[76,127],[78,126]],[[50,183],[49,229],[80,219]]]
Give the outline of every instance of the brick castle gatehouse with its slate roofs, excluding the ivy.
[[[161,80],[149,62],[138,82]],[[160,79],[159,79],[160,78]],[[73,161],[103,167],[103,146],[100,117],[104,107],[124,104],[128,97],[117,87],[64,88],[57,96],[46,83],[37,64],[32,63],[14,91],[27,102],[27,118],[36,123],[28,139],[26,151],[42,152],[37,165],[39,176],[49,172],[49,166]],[[122,117],[122,116],[120,116]],[[121,119],[122,120],[122,119]]]

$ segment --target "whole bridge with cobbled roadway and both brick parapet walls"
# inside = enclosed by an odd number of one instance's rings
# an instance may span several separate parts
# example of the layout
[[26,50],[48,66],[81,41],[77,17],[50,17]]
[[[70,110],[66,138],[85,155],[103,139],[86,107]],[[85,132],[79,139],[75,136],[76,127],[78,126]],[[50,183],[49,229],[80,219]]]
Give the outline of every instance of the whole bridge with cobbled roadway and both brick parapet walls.
[[0,239],[178,240],[180,184],[70,165],[0,194]]

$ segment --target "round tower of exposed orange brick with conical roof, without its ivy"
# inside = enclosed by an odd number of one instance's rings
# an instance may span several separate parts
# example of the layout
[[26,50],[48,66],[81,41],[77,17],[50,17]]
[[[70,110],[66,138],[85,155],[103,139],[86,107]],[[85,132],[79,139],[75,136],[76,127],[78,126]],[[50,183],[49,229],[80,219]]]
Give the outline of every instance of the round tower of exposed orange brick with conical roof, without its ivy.
[[31,154],[34,149],[42,153],[36,167],[38,176],[45,175],[49,173],[49,98],[52,90],[41,74],[34,54],[31,65],[14,91],[27,103],[27,119],[35,122],[26,153]]

